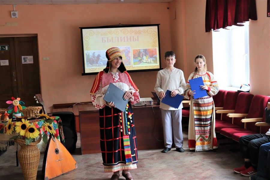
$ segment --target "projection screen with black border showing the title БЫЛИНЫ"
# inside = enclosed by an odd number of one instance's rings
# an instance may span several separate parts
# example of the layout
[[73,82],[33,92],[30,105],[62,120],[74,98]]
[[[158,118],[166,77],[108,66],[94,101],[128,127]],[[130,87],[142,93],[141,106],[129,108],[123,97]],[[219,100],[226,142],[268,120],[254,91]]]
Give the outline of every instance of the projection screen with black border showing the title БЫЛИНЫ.
[[159,24],[80,27],[82,75],[97,74],[107,64],[106,51],[119,47],[128,72],[161,69]]

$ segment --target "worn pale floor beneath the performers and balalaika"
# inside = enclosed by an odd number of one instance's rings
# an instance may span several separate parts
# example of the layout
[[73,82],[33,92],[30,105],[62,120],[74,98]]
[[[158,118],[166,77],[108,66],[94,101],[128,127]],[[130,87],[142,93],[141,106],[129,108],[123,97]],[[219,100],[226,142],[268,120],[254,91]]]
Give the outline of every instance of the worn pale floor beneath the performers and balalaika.
[[[242,166],[243,159],[238,151],[229,149],[238,148],[238,144],[219,145],[217,151],[190,152],[187,147],[187,128],[183,129],[184,146],[186,152],[180,153],[172,149],[168,153],[161,153],[162,149],[139,150],[139,163],[136,170],[131,170],[135,180],[248,180],[249,177],[241,176],[232,171],[235,167]],[[79,138],[78,138],[79,139]],[[231,142],[229,139],[218,140],[219,143]],[[79,141],[77,143],[79,151]],[[101,153],[78,155],[73,158],[78,168],[54,178],[55,180],[109,180],[112,173],[104,173]],[[0,156],[0,179],[21,180],[22,170],[16,167],[14,146]],[[41,177],[44,154],[41,154],[37,179]],[[121,175],[121,180],[125,178]]]

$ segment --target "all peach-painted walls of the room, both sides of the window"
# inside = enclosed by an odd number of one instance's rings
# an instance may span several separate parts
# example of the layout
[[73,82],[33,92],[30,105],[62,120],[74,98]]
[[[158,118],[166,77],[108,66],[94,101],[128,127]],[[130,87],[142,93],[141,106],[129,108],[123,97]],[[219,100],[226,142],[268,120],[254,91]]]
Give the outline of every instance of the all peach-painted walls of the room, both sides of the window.
[[[49,112],[52,104],[90,101],[95,75],[81,76],[79,27],[160,24],[163,68],[164,53],[173,50],[175,66],[184,71],[186,80],[194,70],[193,60],[198,54],[205,55],[208,70],[213,72],[212,32],[205,33],[205,2],[17,5],[18,18],[10,17],[12,5],[1,5],[0,34],[38,34],[41,94]],[[258,20],[250,21],[250,91],[269,96],[270,18],[266,17],[266,3],[266,0],[256,1]],[[5,26],[6,22],[17,22],[18,26]],[[43,57],[49,57],[49,61],[42,60]],[[141,97],[151,97],[157,72],[130,74]]]

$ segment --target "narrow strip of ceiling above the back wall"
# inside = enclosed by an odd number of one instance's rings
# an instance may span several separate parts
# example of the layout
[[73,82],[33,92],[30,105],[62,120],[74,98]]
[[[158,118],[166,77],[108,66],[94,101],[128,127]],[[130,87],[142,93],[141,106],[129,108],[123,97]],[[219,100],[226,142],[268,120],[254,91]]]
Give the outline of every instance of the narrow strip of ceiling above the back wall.
[[0,0],[0,5],[167,3],[173,0]]

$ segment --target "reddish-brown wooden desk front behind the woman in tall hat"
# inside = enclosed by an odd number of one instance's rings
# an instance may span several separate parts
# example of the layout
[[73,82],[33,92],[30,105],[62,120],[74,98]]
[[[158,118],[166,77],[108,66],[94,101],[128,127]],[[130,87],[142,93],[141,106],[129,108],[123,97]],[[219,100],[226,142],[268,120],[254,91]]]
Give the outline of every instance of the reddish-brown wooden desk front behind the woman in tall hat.
[[[132,107],[138,150],[164,148],[159,106]],[[99,110],[91,105],[79,110],[82,154],[100,153]]]

